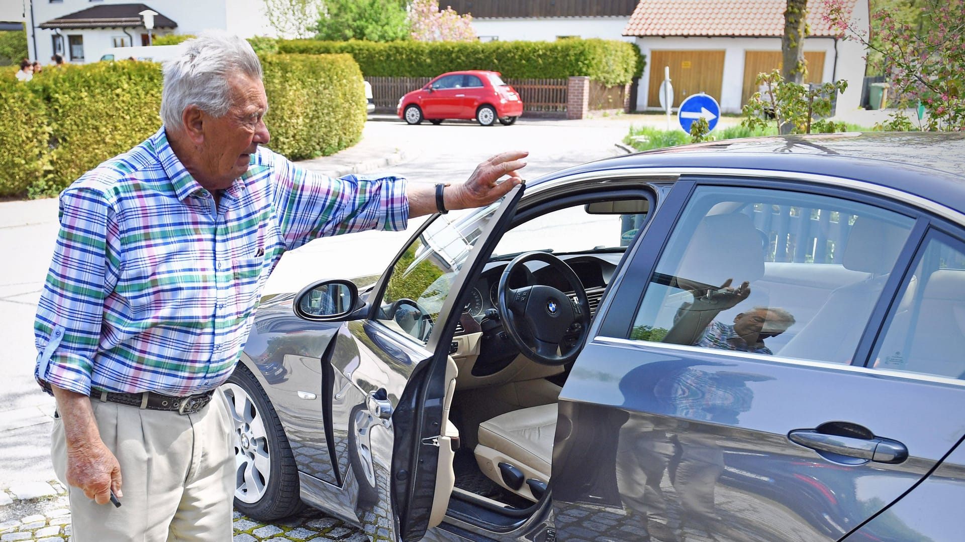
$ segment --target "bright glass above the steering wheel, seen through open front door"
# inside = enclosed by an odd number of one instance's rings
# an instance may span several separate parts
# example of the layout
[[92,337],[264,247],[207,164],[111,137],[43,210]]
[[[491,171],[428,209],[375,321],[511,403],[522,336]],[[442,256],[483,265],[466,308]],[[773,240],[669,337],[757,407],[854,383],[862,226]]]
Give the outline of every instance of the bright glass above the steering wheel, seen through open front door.
[[572,205],[507,231],[493,250],[493,256],[528,251],[560,254],[618,249],[630,244],[646,218],[646,212],[596,214],[585,204]]

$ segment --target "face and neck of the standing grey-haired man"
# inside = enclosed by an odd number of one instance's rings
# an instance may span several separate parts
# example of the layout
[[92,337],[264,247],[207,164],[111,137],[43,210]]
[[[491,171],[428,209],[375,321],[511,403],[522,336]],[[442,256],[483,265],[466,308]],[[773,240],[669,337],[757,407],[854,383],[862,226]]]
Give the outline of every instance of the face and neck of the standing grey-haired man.
[[[200,152],[201,184],[208,190],[225,189],[248,171],[251,155],[270,136],[262,117],[268,110],[262,81],[240,73],[229,79],[232,106],[224,117],[205,115],[204,143]],[[199,179],[200,181],[201,179]]]

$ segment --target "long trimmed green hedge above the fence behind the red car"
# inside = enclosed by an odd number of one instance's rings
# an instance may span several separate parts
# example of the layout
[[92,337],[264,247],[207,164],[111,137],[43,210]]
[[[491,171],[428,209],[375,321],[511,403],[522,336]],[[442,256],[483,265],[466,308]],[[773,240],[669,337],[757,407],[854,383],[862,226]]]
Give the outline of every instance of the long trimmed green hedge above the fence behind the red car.
[[640,49],[626,41],[316,41],[280,40],[282,53],[348,53],[367,77],[434,77],[455,69],[492,69],[506,78],[588,75],[606,85],[643,73]]

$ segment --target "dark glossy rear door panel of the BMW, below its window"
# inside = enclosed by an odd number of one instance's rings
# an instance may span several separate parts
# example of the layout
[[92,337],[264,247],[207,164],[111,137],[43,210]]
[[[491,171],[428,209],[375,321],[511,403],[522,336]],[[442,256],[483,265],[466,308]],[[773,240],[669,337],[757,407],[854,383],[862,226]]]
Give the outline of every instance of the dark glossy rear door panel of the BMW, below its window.
[[[898,397],[916,396],[931,400],[891,408]],[[615,528],[648,528],[654,536],[763,541],[794,532],[800,540],[837,540],[957,443],[965,420],[947,413],[962,407],[962,388],[927,378],[598,339],[561,393],[559,423],[571,429],[558,430],[555,504],[564,517],[603,506],[620,515]],[[902,443],[910,457],[846,464],[787,439],[829,421]],[[588,465],[581,450],[606,457],[600,450],[610,450],[613,459]],[[594,481],[607,479],[619,499],[594,493]],[[561,538],[573,535],[560,528]]]

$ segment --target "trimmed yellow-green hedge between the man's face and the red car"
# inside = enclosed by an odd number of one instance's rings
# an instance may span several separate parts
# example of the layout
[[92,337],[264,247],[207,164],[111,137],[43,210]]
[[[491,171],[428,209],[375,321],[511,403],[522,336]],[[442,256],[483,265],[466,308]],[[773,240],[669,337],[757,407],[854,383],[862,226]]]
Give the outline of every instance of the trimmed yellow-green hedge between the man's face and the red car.
[[263,55],[271,133],[267,147],[291,160],[351,147],[366,120],[362,72],[348,55]]

